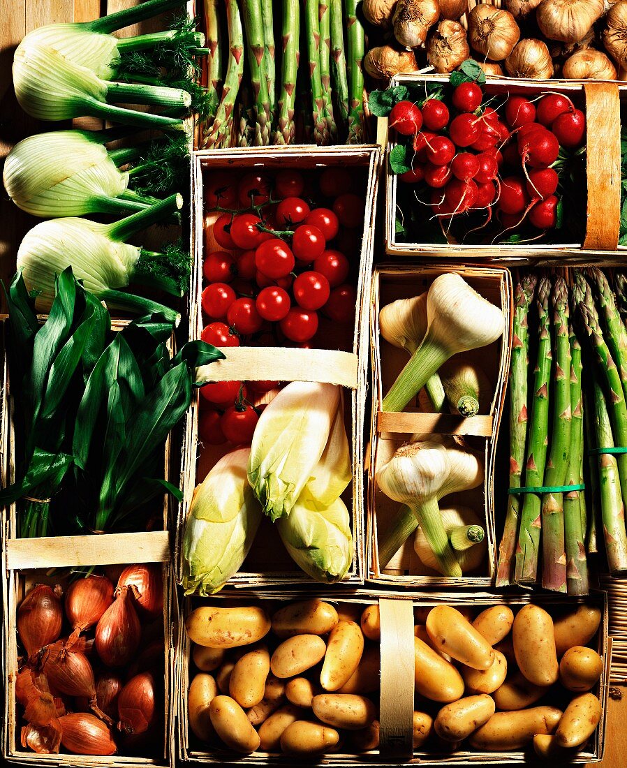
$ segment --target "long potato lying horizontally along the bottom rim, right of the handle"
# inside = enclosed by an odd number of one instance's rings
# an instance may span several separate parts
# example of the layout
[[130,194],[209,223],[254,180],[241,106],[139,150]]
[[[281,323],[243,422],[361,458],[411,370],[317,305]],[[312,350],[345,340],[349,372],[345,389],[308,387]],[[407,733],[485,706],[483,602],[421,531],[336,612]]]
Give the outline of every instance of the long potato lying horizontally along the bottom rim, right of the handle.
[[560,717],[562,711],[556,707],[497,712],[473,733],[470,745],[483,752],[520,750],[536,733],[552,733],[556,730]]

